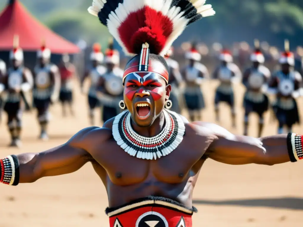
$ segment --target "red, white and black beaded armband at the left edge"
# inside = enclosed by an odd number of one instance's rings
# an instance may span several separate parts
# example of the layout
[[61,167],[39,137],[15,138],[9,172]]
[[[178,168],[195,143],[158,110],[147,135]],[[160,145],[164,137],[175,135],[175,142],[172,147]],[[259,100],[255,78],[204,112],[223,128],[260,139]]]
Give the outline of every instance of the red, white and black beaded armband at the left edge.
[[19,183],[19,162],[15,155],[0,159],[0,183],[18,185]]

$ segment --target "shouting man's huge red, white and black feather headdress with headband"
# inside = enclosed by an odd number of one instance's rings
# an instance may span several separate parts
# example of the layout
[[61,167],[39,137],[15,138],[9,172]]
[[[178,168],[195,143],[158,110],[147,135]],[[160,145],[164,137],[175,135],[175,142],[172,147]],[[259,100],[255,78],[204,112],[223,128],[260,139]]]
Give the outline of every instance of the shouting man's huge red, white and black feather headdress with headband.
[[[129,73],[151,71],[168,81],[165,65],[158,63],[165,61],[163,56],[187,25],[215,14],[211,5],[204,3],[205,0],[93,0],[88,12],[107,26],[125,54],[137,55],[126,65],[123,80]],[[162,60],[154,61],[150,54],[161,55]]]

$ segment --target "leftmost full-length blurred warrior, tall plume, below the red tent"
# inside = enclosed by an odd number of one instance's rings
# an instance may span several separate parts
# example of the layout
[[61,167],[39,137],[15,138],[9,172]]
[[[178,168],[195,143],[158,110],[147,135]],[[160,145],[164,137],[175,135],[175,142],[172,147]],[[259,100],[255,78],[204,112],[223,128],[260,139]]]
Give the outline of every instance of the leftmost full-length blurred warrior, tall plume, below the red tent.
[[9,59],[12,66],[8,68],[6,76],[2,77],[0,90],[3,90],[4,110],[8,115],[8,130],[12,139],[10,146],[19,147],[21,146],[23,106],[21,92],[28,92],[32,88],[30,83],[32,73],[23,66],[23,51],[19,47],[18,36],[14,37],[14,49],[10,51]]

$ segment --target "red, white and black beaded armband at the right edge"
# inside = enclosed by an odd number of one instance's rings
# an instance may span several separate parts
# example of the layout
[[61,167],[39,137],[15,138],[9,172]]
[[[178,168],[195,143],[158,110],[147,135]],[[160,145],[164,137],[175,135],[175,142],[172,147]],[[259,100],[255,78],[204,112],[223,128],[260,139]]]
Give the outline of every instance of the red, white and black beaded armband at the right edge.
[[302,150],[303,136],[296,133],[288,133],[287,150],[291,162],[303,159]]

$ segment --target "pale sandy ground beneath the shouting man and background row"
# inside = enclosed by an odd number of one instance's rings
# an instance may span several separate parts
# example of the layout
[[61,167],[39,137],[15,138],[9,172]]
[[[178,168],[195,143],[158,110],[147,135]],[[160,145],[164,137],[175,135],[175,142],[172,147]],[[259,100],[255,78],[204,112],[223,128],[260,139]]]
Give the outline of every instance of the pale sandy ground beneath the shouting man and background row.
[[[212,100],[215,82],[204,86],[208,109],[204,119],[214,121]],[[77,90],[78,91],[78,90]],[[241,86],[236,89],[238,127],[230,127],[229,110],[222,105],[221,125],[233,133],[243,131]],[[35,112],[24,116],[24,146],[21,150],[8,149],[8,133],[5,123],[0,127],[1,156],[20,152],[38,152],[59,145],[74,133],[88,126],[86,97],[75,94],[75,118],[62,118],[59,105],[52,107],[50,141],[37,140],[38,125]],[[300,100],[300,109],[303,102]],[[276,133],[276,123],[266,116],[264,135]],[[5,121],[5,119],[4,119]],[[256,118],[252,118],[254,123]],[[257,129],[251,123],[250,134]],[[295,132],[303,133],[299,126]],[[181,161],[181,160],[180,160]],[[229,166],[208,160],[202,169],[195,188],[194,202],[199,212],[193,216],[194,226],[204,227],[281,227],[302,226],[303,214],[302,163],[277,166]],[[0,186],[0,227],[62,227],[108,226],[104,213],[107,206],[105,188],[92,166],[87,164],[76,173],[46,179],[17,187]]]

